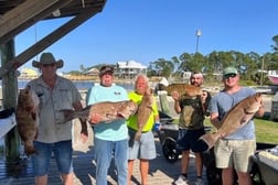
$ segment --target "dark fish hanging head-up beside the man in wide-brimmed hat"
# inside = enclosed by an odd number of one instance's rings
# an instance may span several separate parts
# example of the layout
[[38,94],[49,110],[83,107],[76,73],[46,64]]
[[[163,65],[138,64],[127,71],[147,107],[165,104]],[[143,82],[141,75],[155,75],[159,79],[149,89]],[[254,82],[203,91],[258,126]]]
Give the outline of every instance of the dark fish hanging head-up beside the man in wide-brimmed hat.
[[26,155],[38,153],[34,149],[33,141],[38,137],[39,105],[40,99],[38,95],[30,87],[20,90],[15,120]]

